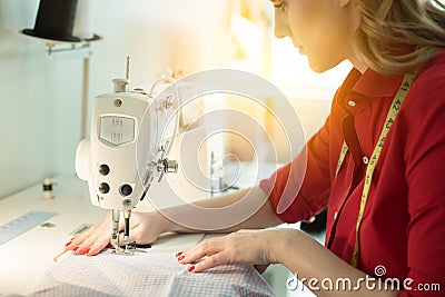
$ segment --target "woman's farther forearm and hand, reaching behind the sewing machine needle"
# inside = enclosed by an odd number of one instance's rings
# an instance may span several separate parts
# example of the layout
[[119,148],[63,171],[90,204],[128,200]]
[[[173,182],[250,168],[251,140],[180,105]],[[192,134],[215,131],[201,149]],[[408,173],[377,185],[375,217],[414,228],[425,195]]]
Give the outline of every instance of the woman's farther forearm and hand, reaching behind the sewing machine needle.
[[[197,214],[191,214],[191,208]],[[210,226],[211,222],[227,227],[219,229],[185,227],[185,225]],[[254,187],[218,198],[196,201],[191,206],[171,207],[164,209],[162,212],[132,214],[129,240],[137,244],[151,244],[156,241],[160,234],[167,231],[230,232],[241,228],[264,228],[281,222],[275,215],[267,195],[260,188]],[[110,242],[111,229],[111,216],[109,214],[95,228],[73,237],[66,244],[65,248],[73,250],[76,255],[97,255]],[[122,224],[120,229],[123,230]],[[122,241],[123,238],[120,238],[120,240]]]

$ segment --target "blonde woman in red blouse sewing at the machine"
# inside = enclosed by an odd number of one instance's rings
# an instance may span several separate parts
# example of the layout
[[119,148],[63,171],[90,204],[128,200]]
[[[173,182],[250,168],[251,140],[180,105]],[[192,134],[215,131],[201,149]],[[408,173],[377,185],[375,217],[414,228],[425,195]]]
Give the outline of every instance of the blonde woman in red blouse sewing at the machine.
[[[445,291],[445,11],[434,0],[274,0],[275,33],[289,37],[316,72],[349,60],[332,112],[300,156],[259,187],[199,202],[217,208],[244,196],[268,199],[233,228],[307,220],[329,207],[326,247],[294,229],[238,231],[177,254],[199,273],[227,263],[283,264],[325,296],[437,296]],[[285,188],[289,182],[289,187]],[[287,209],[280,199],[295,198]],[[176,211],[180,211],[177,207]],[[158,212],[134,218],[132,240],[184,228]],[[67,249],[96,255],[109,218]],[[378,270],[377,268],[384,269]],[[386,271],[385,271],[386,270]],[[384,274],[385,273],[385,274]],[[375,286],[365,283],[383,277]],[[350,290],[322,286],[348,279]],[[384,279],[398,280],[384,283]],[[366,281],[365,281],[366,280]],[[314,287],[314,285],[317,285]],[[438,286],[439,287],[438,287]],[[441,289],[437,290],[437,289]]]

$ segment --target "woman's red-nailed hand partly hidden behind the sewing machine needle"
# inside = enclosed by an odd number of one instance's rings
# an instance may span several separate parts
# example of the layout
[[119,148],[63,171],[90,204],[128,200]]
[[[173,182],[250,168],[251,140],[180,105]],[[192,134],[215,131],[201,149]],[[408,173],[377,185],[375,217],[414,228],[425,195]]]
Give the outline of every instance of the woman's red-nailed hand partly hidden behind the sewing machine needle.
[[[164,220],[165,218],[158,212],[131,214],[129,241],[142,245],[154,242],[164,232]],[[122,220],[119,230],[123,230]],[[109,212],[101,224],[77,235],[66,244],[65,248],[72,250],[75,255],[97,255],[110,244],[111,231],[111,212]],[[123,242],[122,234],[119,241]]]

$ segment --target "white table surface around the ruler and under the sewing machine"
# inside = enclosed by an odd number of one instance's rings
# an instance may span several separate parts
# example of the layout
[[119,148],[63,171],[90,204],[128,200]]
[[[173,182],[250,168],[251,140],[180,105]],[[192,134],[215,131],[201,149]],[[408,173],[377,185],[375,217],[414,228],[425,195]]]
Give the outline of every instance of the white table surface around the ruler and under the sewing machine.
[[[57,212],[48,220],[52,228],[37,226],[0,246],[0,296],[27,295],[39,288],[44,271],[55,265],[52,258],[63,250],[72,232],[83,224],[100,222],[107,210],[90,202],[87,182],[75,175],[52,179],[53,199],[42,198],[42,185],[0,200],[0,226],[30,210]],[[204,234],[167,235],[150,253],[184,250],[206,237]]]

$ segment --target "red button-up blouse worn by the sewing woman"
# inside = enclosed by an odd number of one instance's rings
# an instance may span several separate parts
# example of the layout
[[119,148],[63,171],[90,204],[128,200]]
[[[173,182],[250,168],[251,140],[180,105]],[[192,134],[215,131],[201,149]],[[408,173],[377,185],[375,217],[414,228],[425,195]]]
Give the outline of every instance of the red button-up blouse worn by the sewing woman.
[[[329,117],[296,158],[260,187],[278,217],[307,220],[328,205],[326,246],[350,263],[367,158],[379,137],[402,76],[353,69],[337,90]],[[348,145],[335,176],[343,141]],[[307,158],[301,185],[298,162]],[[290,177],[289,177],[290,172]],[[298,187],[300,189],[298,191]],[[279,200],[294,199],[283,211]],[[445,294],[445,51],[422,69],[392,126],[376,165],[359,230],[358,268],[386,278],[412,278],[412,290],[439,284]],[[425,285],[427,284],[427,285]],[[418,287],[417,287],[418,286]],[[433,286],[433,285],[432,285]],[[432,287],[429,286],[429,287]]]

